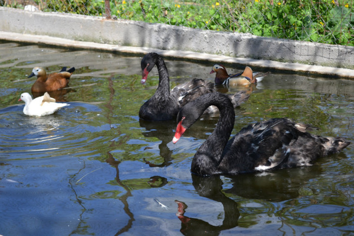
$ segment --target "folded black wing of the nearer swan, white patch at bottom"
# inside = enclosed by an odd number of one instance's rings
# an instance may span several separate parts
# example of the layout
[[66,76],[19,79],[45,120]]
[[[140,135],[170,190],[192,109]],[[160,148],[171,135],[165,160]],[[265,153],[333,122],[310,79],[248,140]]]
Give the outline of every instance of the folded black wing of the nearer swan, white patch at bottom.
[[[271,119],[242,129],[227,144],[224,158],[235,162],[239,172],[273,171],[288,162],[289,145],[298,131],[287,119]],[[234,153],[237,154],[234,154]],[[235,159],[235,160],[233,160]]]

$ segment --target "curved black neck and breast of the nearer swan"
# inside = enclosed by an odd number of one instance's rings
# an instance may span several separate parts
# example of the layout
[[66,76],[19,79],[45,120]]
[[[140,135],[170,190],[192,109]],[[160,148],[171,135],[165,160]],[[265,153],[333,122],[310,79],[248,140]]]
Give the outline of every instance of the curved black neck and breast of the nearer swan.
[[218,174],[217,167],[222,161],[222,154],[235,123],[234,107],[228,97],[217,94],[210,96],[204,103],[207,108],[214,105],[219,109],[220,117],[212,134],[200,146],[192,161],[192,172],[199,175]]

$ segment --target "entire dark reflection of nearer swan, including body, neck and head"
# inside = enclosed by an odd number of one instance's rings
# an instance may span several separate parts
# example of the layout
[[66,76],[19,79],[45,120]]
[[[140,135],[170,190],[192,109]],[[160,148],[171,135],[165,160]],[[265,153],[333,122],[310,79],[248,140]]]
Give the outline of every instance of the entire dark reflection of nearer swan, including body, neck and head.
[[[221,231],[238,226],[240,212],[238,204],[227,195],[237,195],[245,199],[259,199],[266,202],[282,202],[297,199],[303,193],[316,191],[307,184],[322,173],[321,165],[312,167],[284,169],[274,172],[249,173],[236,176],[201,177],[192,174],[193,186],[200,196],[223,204],[225,217],[222,225],[188,217],[186,203],[175,200],[178,204],[176,216],[181,221],[181,232],[184,235],[218,235]],[[223,189],[224,186],[231,186]],[[186,215],[185,215],[186,214]],[[256,213],[255,213],[256,214]]]

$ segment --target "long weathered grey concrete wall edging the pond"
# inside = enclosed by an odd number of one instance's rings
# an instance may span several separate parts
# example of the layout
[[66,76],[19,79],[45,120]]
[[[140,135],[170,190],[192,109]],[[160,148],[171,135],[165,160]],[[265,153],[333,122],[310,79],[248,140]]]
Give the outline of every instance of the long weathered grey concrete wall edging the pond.
[[354,47],[0,7],[0,39],[354,78]]

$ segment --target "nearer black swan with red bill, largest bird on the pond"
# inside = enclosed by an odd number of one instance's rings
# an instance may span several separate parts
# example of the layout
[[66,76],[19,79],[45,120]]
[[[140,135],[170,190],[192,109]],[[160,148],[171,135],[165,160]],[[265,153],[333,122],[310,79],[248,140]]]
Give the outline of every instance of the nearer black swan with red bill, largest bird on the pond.
[[249,125],[229,140],[235,112],[228,97],[220,93],[205,94],[181,108],[173,143],[210,105],[217,106],[220,117],[194,155],[194,174],[239,174],[311,166],[320,156],[338,152],[350,143],[344,138],[312,135],[306,132],[308,126],[284,118]]

